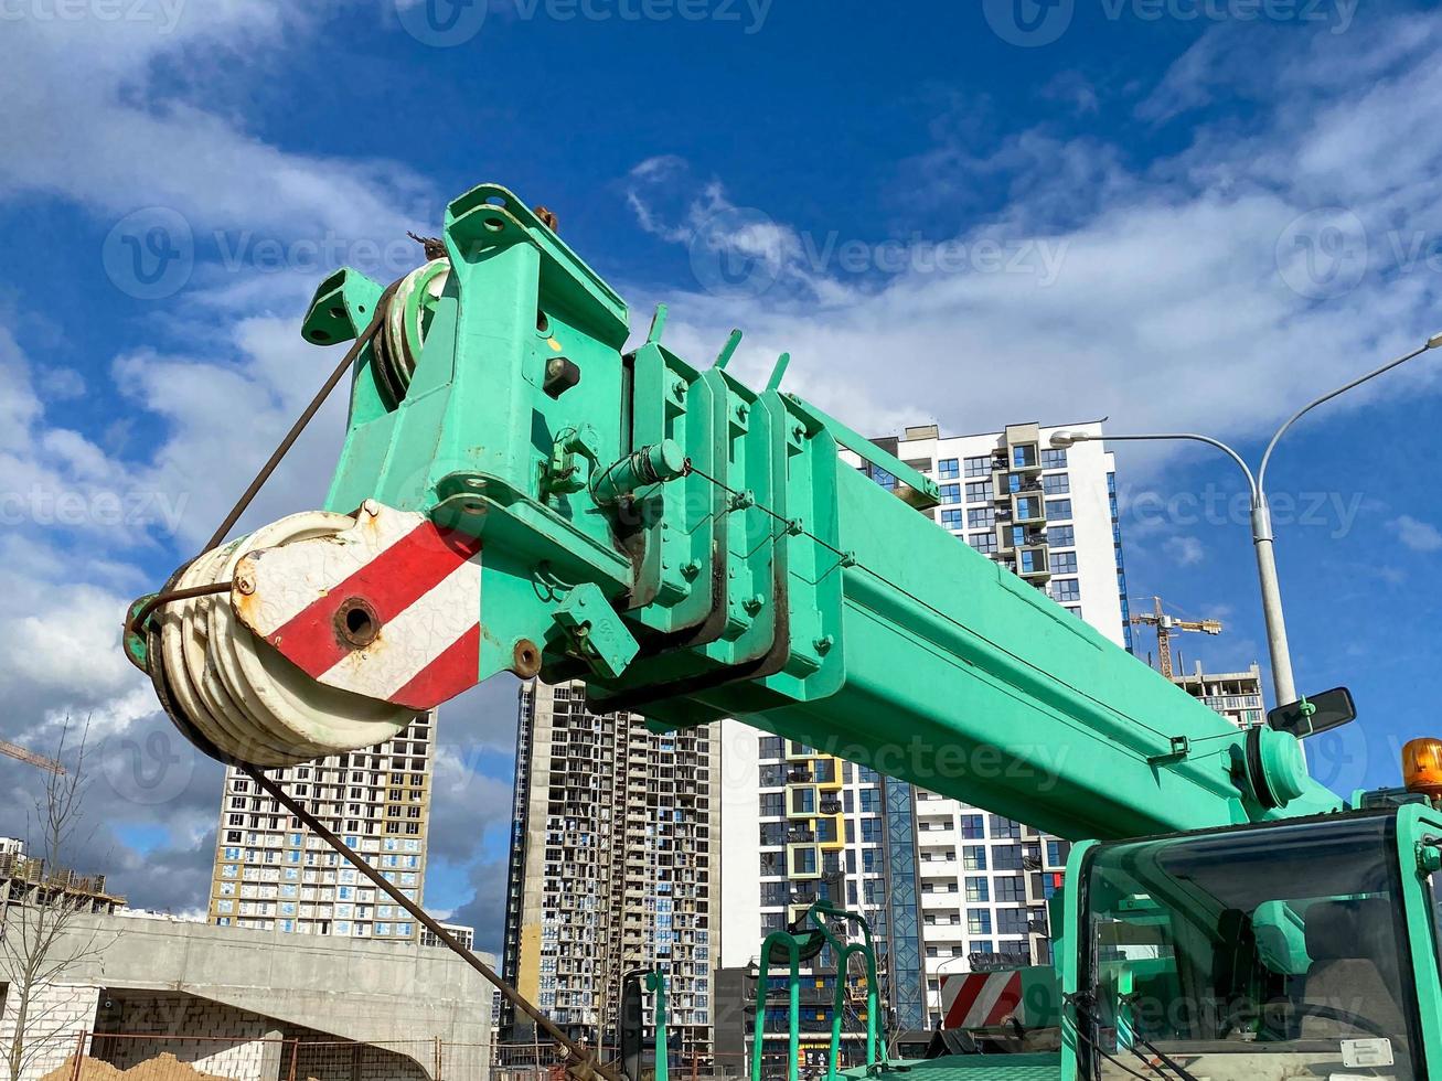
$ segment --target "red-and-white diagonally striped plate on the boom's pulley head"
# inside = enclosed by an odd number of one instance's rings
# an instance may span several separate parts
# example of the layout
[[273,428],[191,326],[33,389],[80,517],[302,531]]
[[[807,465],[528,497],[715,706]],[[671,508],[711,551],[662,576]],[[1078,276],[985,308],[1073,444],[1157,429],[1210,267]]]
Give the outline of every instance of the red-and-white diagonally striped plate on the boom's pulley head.
[[[431,709],[476,685],[477,538],[366,500],[352,529],[251,552],[235,571],[241,621],[326,686]],[[363,608],[373,640],[346,637],[343,607]]]

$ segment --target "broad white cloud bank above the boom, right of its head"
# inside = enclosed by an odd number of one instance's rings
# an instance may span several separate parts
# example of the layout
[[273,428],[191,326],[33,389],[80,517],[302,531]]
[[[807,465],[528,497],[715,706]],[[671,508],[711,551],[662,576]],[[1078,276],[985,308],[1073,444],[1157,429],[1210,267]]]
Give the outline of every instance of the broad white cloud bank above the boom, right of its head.
[[[1249,120],[1198,127],[1190,146],[1146,167],[1123,164],[1118,146],[1048,130],[991,151],[975,140],[943,141],[916,164],[932,195],[953,197],[978,179],[1011,187],[986,222],[932,238],[957,245],[953,272],[908,252],[900,270],[880,268],[887,223],[859,216],[771,222],[767,235],[784,242],[747,245],[727,226],[750,222],[757,235],[766,208],[747,209],[715,179],[692,182],[685,196],[676,189],[686,172],[668,159],[633,176],[630,197],[643,228],[685,244],[702,268],[679,295],[632,295],[669,300],[673,346],[699,359],[730,327],[744,327],[748,340],[733,365],[743,378],[764,378],[777,352],[792,352],[789,389],[867,432],[895,431],[924,412],[950,431],[1110,415],[1116,431],[1256,435],[1435,329],[1433,274],[1387,264],[1393,223],[1436,221],[1442,209],[1442,176],[1420,164],[1442,156],[1442,130],[1426,128],[1417,111],[1419,101],[1442,97],[1442,71],[1425,50],[1399,53],[1392,39],[1436,36],[1442,16],[1377,25],[1354,26],[1345,45],[1269,36],[1286,92],[1259,98]],[[1172,82],[1242,79],[1237,65],[1221,66],[1224,49],[1208,49]],[[1321,75],[1332,56],[1350,71],[1370,65],[1370,89],[1334,97]],[[653,174],[665,184],[646,183]],[[926,203],[927,193],[917,199]],[[1334,205],[1350,218],[1305,216]],[[1361,249],[1340,258],[1360,262],[1308,262],[1314,241],[1331,241],[1338,221],[1353,219]],[[832,233],[839,244],[828,246]],[[870,245],[861,271],[844,264],[848,239]],[[983,258],[996,248],[999,262]],[[1050,284],[1043,252],[1060,254]],[[730,277],[717,284],[721,255],[731,258]],[[1435,379],[1417,365],[1373,393],[1415,392]],[[1330,408],[1357,408],[1367,396]],[[1180,453],[1193,451],[1144,444],[1128,448],[1128,464]]]

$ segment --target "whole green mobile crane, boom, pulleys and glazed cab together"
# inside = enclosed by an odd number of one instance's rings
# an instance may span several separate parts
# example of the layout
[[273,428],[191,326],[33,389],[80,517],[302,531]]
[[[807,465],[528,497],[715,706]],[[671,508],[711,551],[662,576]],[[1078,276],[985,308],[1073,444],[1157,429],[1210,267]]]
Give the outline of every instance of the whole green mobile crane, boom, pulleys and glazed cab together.
[[[658,307],[630,340],[620,295],[512,192],[457,197],[428,254],[388,287],[320,284],[301,334],[345,356],[128,614],[199,748],[284,796],[264,770],[373,747],[503,670],[583,679],[660,731],[737,718],[1076,842],[1051,899],[1060,1049],[962,1064],[978,1081],[1442,1080],[1442,741],[1405,748],[1405,788],[1344,798],[1299,744],[1351,719],[1328,718],[1338,695],[1239,731],[916,513],[936,483],[782,391],[784,355],[756,389],[728,369],[738,333],[701,365]],[[324,507],[229,539],[346,376]],[[1011,520],[1034,517],[1037,463],[998,468],[1024,474]],[[868,1058],[858,1077],[885,1042]]]

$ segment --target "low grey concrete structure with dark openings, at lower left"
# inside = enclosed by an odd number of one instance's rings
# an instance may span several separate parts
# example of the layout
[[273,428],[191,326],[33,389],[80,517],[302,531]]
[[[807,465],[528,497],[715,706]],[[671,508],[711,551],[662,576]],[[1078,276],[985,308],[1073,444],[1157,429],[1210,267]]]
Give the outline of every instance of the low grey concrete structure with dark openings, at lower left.
[[[32,996],[40,1012],[32,1006],[27,1038],[43,1046],[20,1081],[63,1062],[88,1029],[151,1036],[101,1041],[97,1056],[120,1068],[169,1051],[203,1072],[273,1081],[290,1067],[280,1041],[298,1039],[313,1045],[298,1078],[424,1081],[440,1041],[456,1067],[443,1071],[447,1081],[486,1077],[492,989],[448,950],[94,915],[78,918],[52,956],[79,954],[63,986]],[[7,993],[6,1044],[16,1005]],[[333,1046],[314,1046],[323,1042]]]

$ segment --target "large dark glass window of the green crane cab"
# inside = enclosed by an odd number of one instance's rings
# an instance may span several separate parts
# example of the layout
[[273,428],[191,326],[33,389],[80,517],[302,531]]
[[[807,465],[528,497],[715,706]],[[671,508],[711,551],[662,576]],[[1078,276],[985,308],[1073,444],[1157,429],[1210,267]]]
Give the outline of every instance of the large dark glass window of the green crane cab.
[[[1397,820],[1331,817],[1102,846],[1084,885],[1089,925],[1079,937],[1090,948],[1079,951],[1080,986],[1105,980],[1099,973],[1110,974],[1115,961],[1154,957],[1188,971],[1195,986],[1247,987],[1249,1002],[1268,1003],[1246,1054],[1268,1059],[1278,1077],[1308,1071],[1314,1039],[1390,1041],[1396,1065],[1387,1075],[1429,1077],[1417,1055],[1419,984],[1397,976],[1406,971]],[[1282,1016],[1268,1018],[1275,1010]],[[1206,1061],[1226,1058],[1214,1049],[1236,1032],[1230,1010],[1133,1018],[1142,1039]],[[1107,1033],[1093,1048],[1110,1052],[1113,1041]],[[1087,1061],[1077,1075],[1092,1077],[1093,1067],[1106,1068]]]

